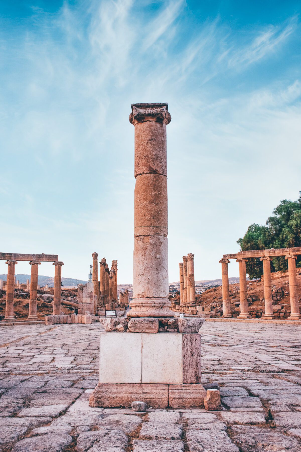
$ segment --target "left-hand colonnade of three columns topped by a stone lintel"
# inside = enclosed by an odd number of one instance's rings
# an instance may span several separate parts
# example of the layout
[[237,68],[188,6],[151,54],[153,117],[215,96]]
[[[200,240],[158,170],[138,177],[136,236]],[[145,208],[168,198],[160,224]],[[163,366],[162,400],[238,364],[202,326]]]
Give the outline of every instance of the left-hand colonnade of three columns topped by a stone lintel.
[[[61,297],[61,269],[63,262],[58,261],[56,254],[14,254],[14,253],[0,253],[0,260],[8,260],[7,264],[7,280],[6,280],[6,304],[5,304],[5,318],[3,322],[14,321],[14,284],[15,284],[15,266],[19,261],[29,260],[31,265],[30,287],[29,279],[27,280],[27,289],[29,289],[29,312],[28,320],[38,320],[37,318],[37,279],[38,279],[38,265],[42,262],[49,262],[54,260],[55,275],[54,275],[54,297],[53,297],[53,314],[60,315],[60,297]],[[10,259],[9,259],[10,258]],[[18,285],[17,285],[18,286]]]

